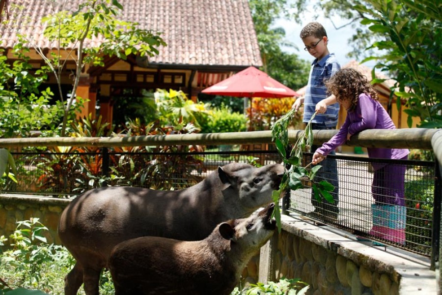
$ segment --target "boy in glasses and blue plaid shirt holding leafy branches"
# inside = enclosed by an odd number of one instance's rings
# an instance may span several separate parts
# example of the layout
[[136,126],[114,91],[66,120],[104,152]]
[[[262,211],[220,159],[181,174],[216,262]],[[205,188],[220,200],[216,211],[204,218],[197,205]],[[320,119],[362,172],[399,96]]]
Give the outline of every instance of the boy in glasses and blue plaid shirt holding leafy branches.
[[[336,102],[334,95],[327,96],[327,88],[324,82],[340,69],[340,65],[335,55],[330,53],[327,48],[329,39],[327,38],[326,30],[320,23],[308,23],[301,30],[300,37],[305,45],[304,50],[308,51],[315,59],[311,64],[304,97],[299,97],[292,108],[298,111],[304,103],[304,123],[307,123],[313,114],[317,112],[312,120],[312,129],[336,129],[339,104]],[[314,152],[319,147],[313,145],[311,151]],[[334,151],[331,154],[334,154]],[[311,203],[315,210],[310,212],[309,215],[316,218],[330,217],[332,221],[336,221],[339,213],[336,160],[329,158],[322,165],[323,167],[316,174],[317,178],[315,181],[325,179],[334,185],[335,189],[331,193],[334,204],[327,202],[325,199],[322,202],[318,202],[312,194]]]

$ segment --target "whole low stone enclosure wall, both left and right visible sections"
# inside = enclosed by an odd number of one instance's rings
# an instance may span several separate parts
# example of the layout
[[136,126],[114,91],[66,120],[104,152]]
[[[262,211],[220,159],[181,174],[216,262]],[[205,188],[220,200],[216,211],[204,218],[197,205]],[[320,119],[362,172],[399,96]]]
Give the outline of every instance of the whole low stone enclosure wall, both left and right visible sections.
[[[0,195],[0,236],[12,234],[17,221],[38,217],[49,229],[48,242],[59,244],[58,218],[69,202]],[[437,294],[435,271],[424,260],[365,245],[346,232],[316,226],[298,215],[283,215],[281,223],[281,233],[244,269],[243,286],[286,277],[309,284],[309,295]]]

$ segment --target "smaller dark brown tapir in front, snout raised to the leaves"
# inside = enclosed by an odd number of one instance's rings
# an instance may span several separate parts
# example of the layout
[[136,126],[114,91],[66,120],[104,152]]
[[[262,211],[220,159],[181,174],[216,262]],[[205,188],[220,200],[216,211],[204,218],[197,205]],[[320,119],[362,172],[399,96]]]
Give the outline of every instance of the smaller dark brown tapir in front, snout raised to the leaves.
[[142,236],[119,243],[108,261],[115,295],[229,295],[275,232],[274,207],[225,221],[200,241]]

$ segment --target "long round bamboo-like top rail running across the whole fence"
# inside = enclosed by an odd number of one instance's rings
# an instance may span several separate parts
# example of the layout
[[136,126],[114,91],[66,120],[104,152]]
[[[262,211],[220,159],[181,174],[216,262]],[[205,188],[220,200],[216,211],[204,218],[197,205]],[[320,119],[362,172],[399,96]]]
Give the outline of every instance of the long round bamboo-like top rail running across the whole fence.
[[[346,143],[352,147],[432,149],[431,139],[438,129],[408,128],[394,130],[364,130]],[[290,130],[291,143],[303,130]],[[314,144],[328,141],[337,130],[313,130]],[[163,145],[248,145],[270,144],[272,132],[193,133],[126,137],[36,137],[0,139],[0,147],[136,147]]]

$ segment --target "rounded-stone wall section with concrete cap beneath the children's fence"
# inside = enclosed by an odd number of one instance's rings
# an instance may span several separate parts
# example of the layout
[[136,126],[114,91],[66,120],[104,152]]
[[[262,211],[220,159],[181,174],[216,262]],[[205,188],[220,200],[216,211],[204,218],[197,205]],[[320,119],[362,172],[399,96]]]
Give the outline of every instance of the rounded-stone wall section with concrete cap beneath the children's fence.
[[430,261],[375,247],[301,216],[282,216],[282,231],[261,248],[258,281],[301,278],[310,295],[439,294]]

